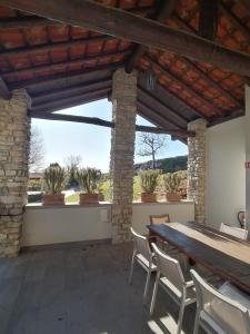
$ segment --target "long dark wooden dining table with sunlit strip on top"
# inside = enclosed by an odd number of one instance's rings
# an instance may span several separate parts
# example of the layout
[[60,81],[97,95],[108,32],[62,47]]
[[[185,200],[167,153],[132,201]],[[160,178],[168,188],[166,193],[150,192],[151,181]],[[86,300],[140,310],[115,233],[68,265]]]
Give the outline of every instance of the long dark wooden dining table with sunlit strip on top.
[[250,243],[196,223],[148,226],[158,236],[216,275],[250,294]]

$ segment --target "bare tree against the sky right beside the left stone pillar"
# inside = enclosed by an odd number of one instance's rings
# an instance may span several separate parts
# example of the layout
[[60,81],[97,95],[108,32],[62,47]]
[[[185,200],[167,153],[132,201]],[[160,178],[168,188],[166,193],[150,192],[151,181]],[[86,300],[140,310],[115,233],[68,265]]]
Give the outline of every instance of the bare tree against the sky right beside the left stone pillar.
[[31,127],[30,149],[29,149],[29,170],[39,171],[44,161],[44,141],[38,127]]

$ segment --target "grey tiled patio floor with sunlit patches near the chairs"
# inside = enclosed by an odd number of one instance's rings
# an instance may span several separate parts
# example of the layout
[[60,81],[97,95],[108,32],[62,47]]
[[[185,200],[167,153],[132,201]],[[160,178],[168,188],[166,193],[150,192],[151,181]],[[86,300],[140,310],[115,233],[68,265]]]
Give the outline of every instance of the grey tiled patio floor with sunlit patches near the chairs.
[[[174,333],[178,306],[159,289],[156,314],[142,306],[146,273],[128,273],[132,245],[61,247],[0,259],[1,334]],[[154,277],[153,277],[154,278]],[[189,306],[183,333],[192,333]]]

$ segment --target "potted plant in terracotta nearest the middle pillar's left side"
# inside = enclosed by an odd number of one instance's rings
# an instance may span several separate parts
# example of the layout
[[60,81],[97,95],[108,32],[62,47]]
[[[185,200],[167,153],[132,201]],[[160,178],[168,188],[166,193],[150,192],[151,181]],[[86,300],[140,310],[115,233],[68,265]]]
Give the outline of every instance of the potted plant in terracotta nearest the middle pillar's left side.
[[81,193],[79,195],[79,204],[97,204],[99,203],[98,183],[101,171],[96,168],[83,168],[77,171],[77,180]]

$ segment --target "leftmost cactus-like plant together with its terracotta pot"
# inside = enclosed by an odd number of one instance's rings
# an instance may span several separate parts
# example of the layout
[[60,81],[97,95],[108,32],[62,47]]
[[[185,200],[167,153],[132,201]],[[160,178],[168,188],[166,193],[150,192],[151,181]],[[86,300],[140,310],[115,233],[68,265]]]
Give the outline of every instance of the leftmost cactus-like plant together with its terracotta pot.
[[66,170],[59,164],[50,164],[44,170],[43,181],[46,193],[42,195],[43,205],[63,205],[62,188],[66,180]]

